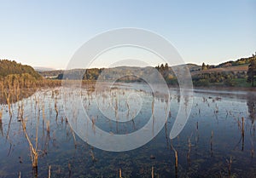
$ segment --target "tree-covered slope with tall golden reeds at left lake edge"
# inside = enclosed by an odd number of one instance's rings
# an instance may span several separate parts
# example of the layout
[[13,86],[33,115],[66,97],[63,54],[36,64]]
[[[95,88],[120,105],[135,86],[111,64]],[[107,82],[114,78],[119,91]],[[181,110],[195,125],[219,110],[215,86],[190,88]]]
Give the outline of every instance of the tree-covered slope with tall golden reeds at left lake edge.
[[32,95],[39,87],[55,86],[61,86],[61,81],[42,78],[32,66],[0,60],[0,103],[10,107],[10,103]]

